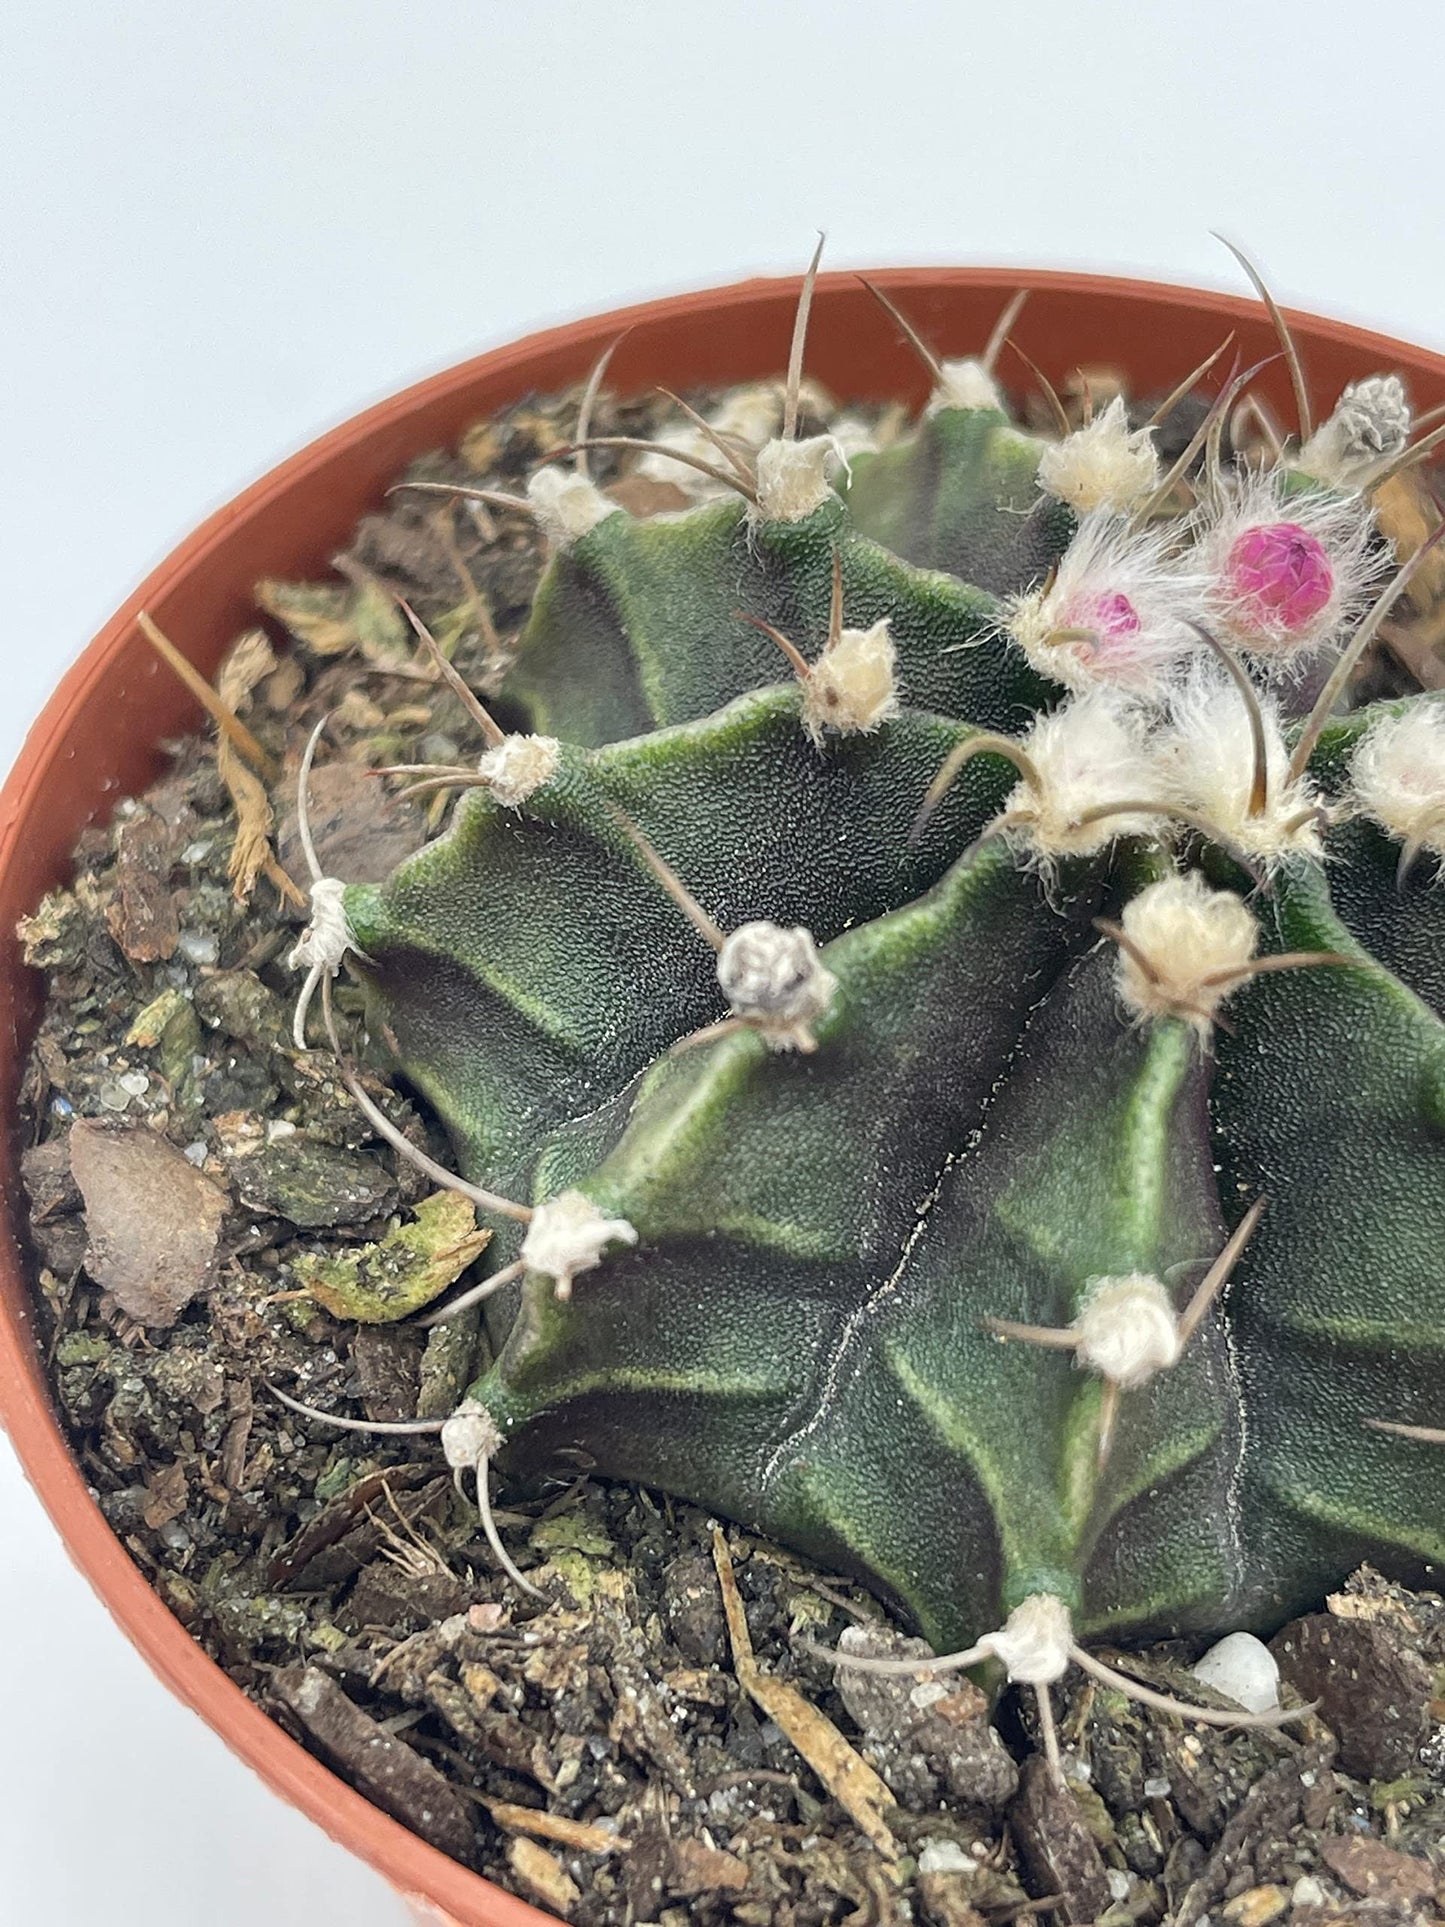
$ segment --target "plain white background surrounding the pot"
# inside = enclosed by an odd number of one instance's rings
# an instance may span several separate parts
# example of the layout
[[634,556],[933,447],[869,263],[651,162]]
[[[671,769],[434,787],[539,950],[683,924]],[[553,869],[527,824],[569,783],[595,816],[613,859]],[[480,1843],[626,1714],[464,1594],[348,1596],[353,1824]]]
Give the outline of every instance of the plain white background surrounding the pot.
[[[206,511],[538,324],[1019,262],[1445,343],[1439,0],[48,0],[0,29],[0,767]],[[0,1441],[0,1919],[397,1927],[144,1673]]]

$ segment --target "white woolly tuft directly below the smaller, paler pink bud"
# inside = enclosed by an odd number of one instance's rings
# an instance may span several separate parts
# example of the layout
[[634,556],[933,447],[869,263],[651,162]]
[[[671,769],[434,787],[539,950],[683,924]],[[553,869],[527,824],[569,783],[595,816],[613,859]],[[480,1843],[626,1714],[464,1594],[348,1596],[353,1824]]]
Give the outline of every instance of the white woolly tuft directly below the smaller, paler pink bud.
[[1116,836],[1152,836],[1162,817],[1121,813],[1079,825],[1089,809],[1164,796],[1139,715],[1102,692],[1038,717],[1023,740],[1038,788],[1019,782],[1004,805],[1010,838],[1042,858],[1092,856]]

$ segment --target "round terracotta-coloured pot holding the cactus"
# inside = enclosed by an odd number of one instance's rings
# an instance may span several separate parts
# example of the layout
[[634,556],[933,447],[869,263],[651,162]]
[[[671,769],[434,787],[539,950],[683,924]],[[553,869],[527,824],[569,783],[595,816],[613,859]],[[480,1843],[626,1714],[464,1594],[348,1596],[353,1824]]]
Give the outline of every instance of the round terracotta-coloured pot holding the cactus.
[[[1235,330],[1245,360],[1272,353],[1260,308],[1243,299],[1077,274],[946,268],[888,270],[877,279],[944,353],[977,351],[1002,301],[1035,289],[1017,326],[1029,355],[1058,383],[1077,364],[1114,364],[1135,389],[1166,387]],[[451,441],[468,422],[530,389],[582,378],[630,330],[613,360],[617,387],[738,382],[776,372],[788,347],[796,281],[647,303],[532,335],[434,376],[293,455],[214,515],[137,590],[60,684],[31,730],[0,802],[0,1087],[13,1110],[40,1004],[40,979],[17,954],[15,919],[60,883],[81,829],[162,767],[156,748],[200,715],[135,630],[144,607],[191,659],[212,671],[254,619],[262,574],[318,576],[358,516],[414,455]],[[1295,318],[1314,385],[1327,407],[1341,385],[1379,368],[1410,380],[1416,409],[1445,401],[1445,358],[1339,322]],[[925,376],[852,276],[819,281],[807,370],[836,395],[921,401]],[[1021,366],[1006,370],[1021,382]],[[1281,364],[1260,387],[1293,420]],[[13,1131],[4,1135],[0,1256],[0,1418],[66,1545],[154,1671],[285,1800],[360,1854],[428,1921],[522,1927],[545,1915],[426,1846],[362,1800],[258,1711],[160,1603],[112,1534],[56,1424],[37,1357],[19,1222]]]

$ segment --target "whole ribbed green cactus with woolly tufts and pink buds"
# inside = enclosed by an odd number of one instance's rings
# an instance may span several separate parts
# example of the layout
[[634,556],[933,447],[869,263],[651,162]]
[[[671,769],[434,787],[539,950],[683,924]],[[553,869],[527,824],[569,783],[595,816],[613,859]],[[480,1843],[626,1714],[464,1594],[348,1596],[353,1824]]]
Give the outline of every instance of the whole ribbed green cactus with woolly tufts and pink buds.
[[1445,1420],[1445,703],[1341,701],[1397,380],[1275,464],[1225,385],[1166,474],[934,376],[842,462],[678,436],[686,513],[539,470],[534,734],[476,707],[301,962],[497,1229],[455,1465],[580,1451],[1037,1680],[1445,1559],[1372,1424]]

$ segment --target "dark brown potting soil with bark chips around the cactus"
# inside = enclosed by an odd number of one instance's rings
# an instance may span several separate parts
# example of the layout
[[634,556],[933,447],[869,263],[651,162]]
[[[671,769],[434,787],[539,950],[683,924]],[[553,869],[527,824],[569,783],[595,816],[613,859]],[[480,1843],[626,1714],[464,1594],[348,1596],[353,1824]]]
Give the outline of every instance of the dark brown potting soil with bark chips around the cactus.
[[[514,489],[570,437],[574,403],[480,424],[416,472]],[[605,409],[601,426],[659,420],[661,405]],[[480,526],[426,495],[393,497],[345,563],[353,603],[380,582],[441,622],[470,597],[451,640],[482,690],[538,572],[524,518]],[[266,592],[299,644],[235,701],[276,763],[276,854],[293,877],[295,769],[333,711],[316,825],[326,867],[364,881],[428,832],[366,771],[455,763],[470,736],[449,694],[393,673],[387,622],[339,595]],[[1435,1596],[1364,1572],[1285,1628],[1285,1678],[1320,1700],[1289,1734],[1183,1727],[1065,1680],[1060,1792],[1029,1705],[1006,1696],[990,1725],[967,1682],[840,1680],[811,1653],[850,1624],[873,1650],[913,1650],[844,1580],[572,1468],[497,1495],[538,1605],[495,1571],[432,1439],[285,1411],[270,1382],[374,1420],[445,1414],[486,1339],[466,1320],[430,1337],[339,1320],[301,1283],[318,1253],[383,1237],[430,1187],[372,1135],[329,1054],[291,1048],[299,911],[277,913],[264,865],[237,900],[235,831],[214,744],[177,744],[171,773],[85,836],[73,884],[29,921],[50,1002],[25,1177],[75,1453],[133,1559],[245,1692],[439,1848],[586,1927],[1439,1917]],[[360,1050],[345,989],[339,1004]],[[374,1091],[445,1158],[414,1104],[380,1075]],[[782,1682],[778,1717],[740,1682],[721,1572],[736,1572],[761,1673]],[[1208,1698],[1183,1671],[1193,1657],[1131,1663]],[[800,1696],[830,1723],[811,1767],[784,1730]],[[867,1811],[848,1792],[855,1755],[882,1777]]]

